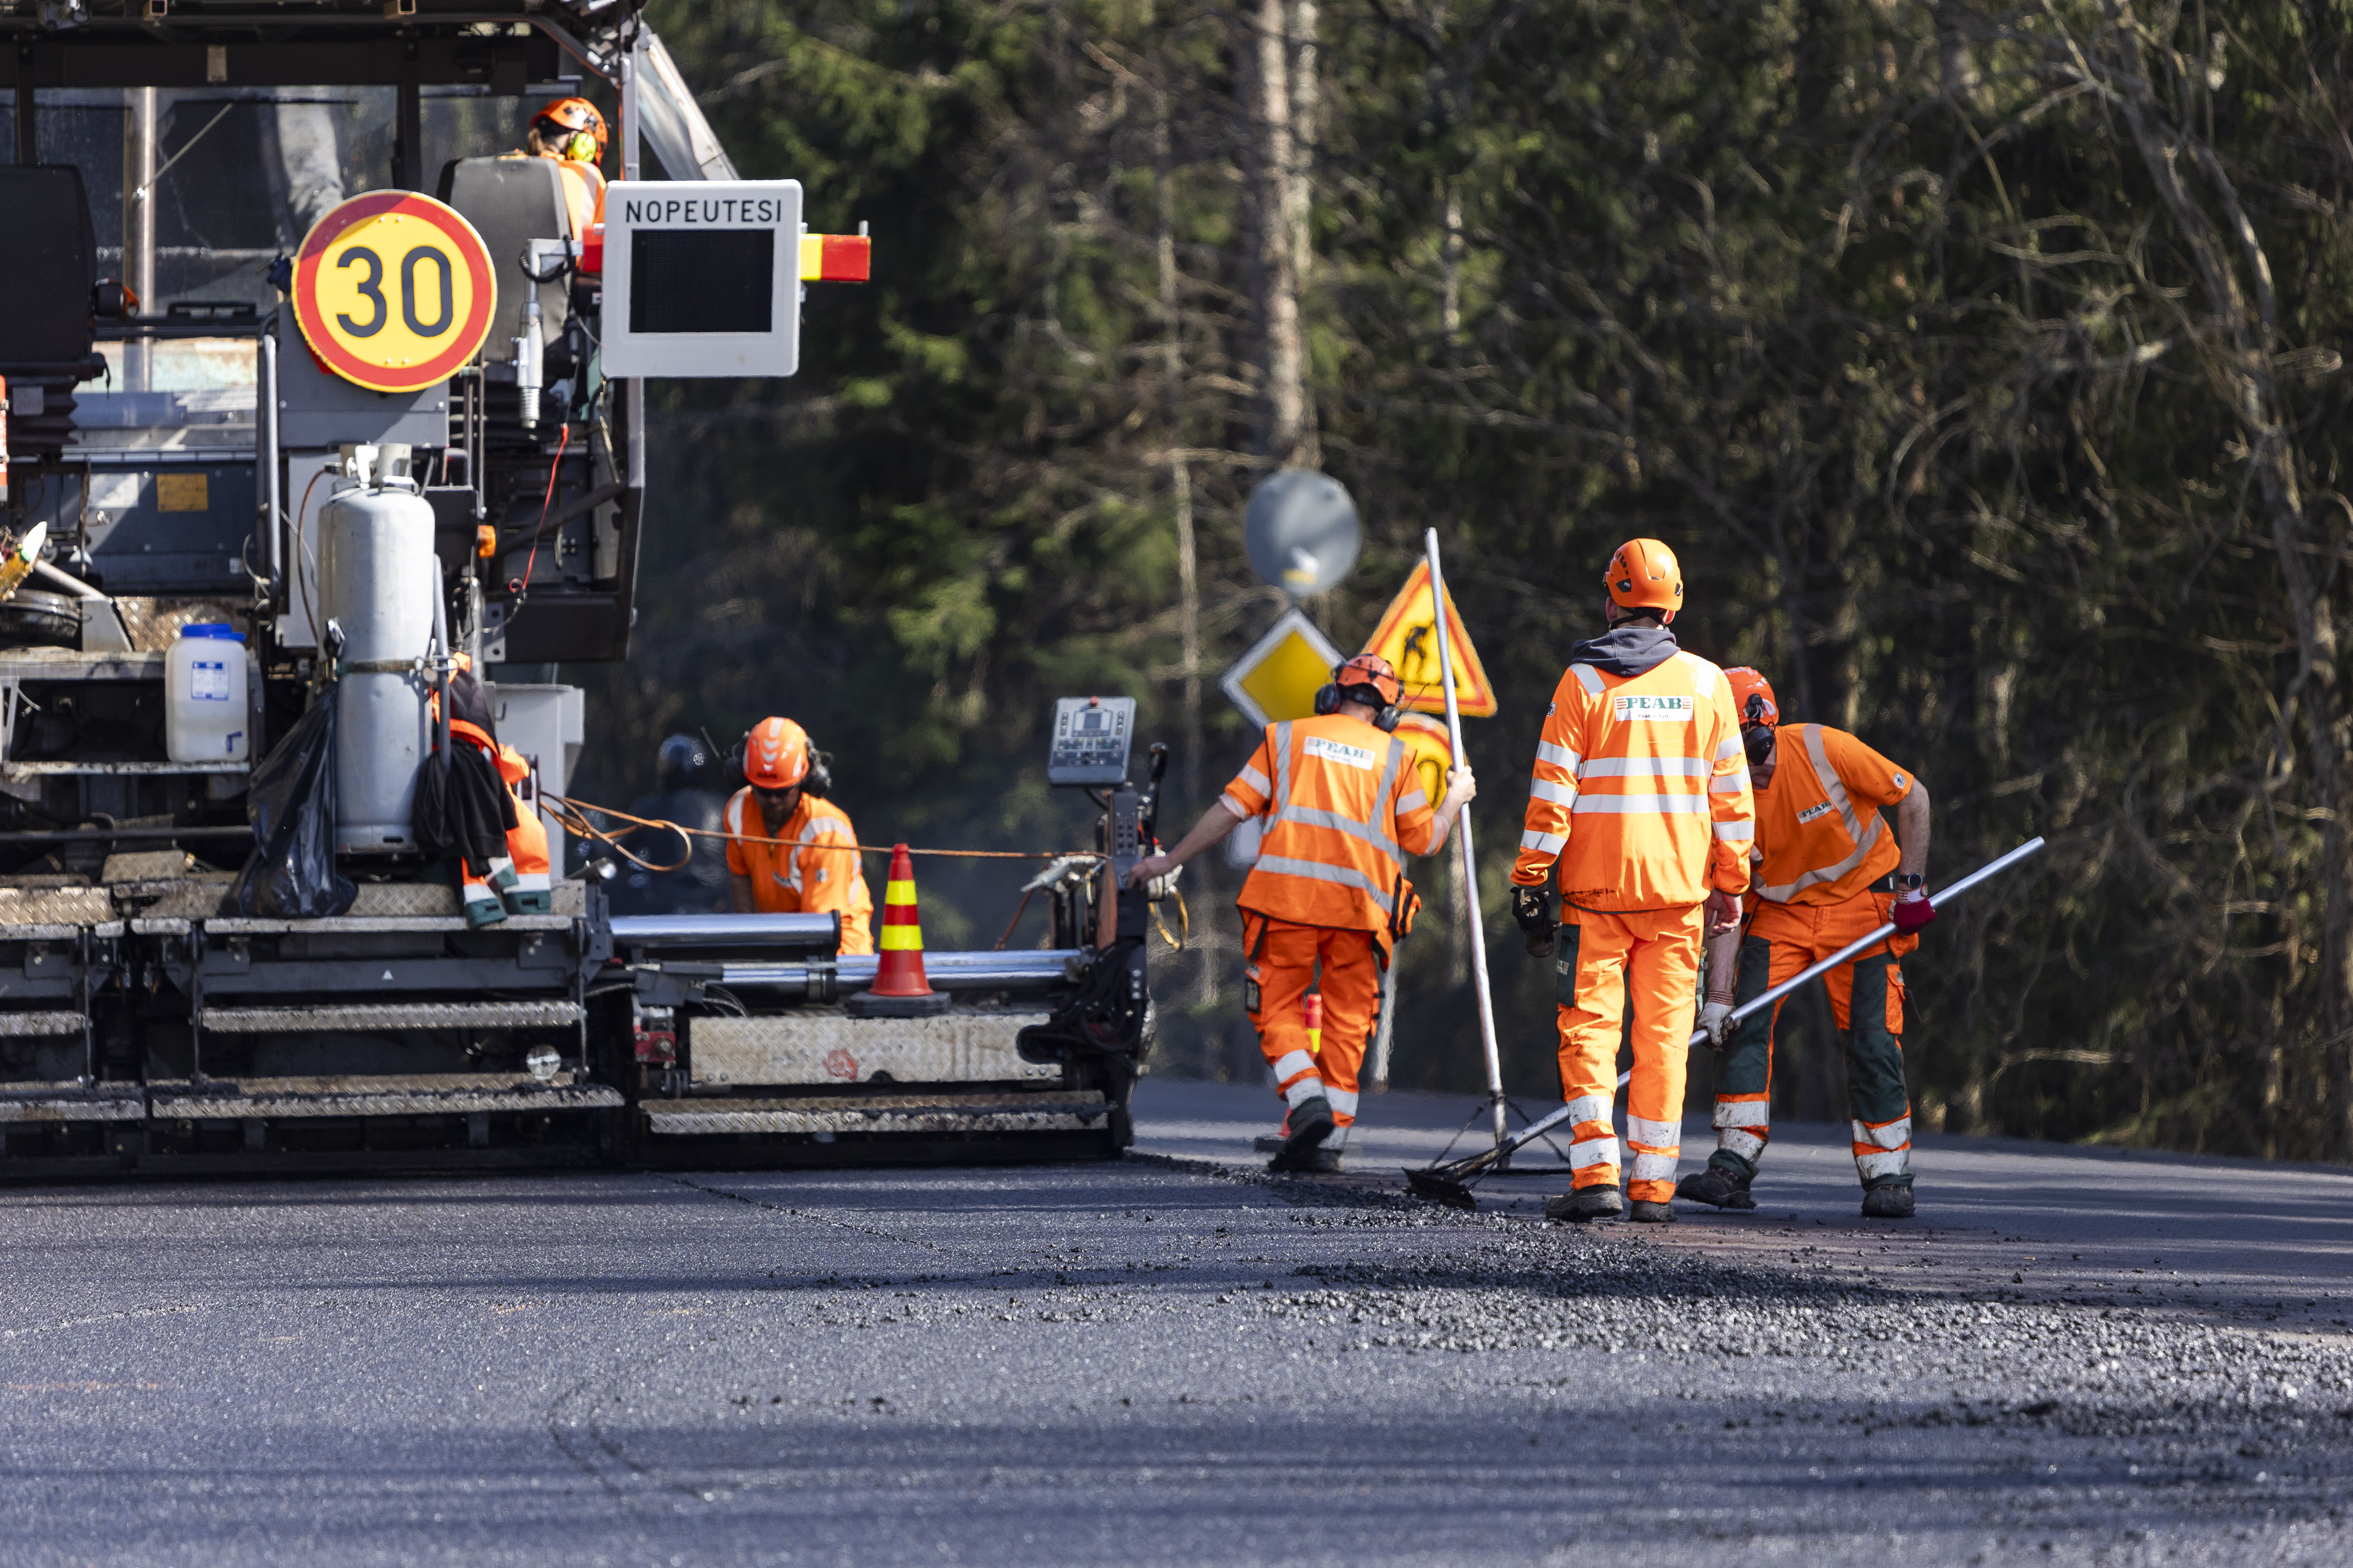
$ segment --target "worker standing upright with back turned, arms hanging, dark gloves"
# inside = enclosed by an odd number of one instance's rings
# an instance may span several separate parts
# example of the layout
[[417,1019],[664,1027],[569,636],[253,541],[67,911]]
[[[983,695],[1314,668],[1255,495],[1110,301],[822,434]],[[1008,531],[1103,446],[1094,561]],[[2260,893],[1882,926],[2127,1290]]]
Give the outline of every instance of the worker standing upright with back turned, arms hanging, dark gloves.
[[[1633,538],[1602,583],[1609,630],[1569,649],[1537,743],[1511,912],[1532,954],[1558,950],[1572,1175],[1544,1213],[1626,1213],[1612,1103],[1631,990],[1624,1197],[1633,1220],[1668,1222],[1701,933],[1732,931],[1748,886],[1748,769],[1725,672],[1666,630],[1682,609],[1673,550]],[[1555,867],[1558,926],[1544,886]]]

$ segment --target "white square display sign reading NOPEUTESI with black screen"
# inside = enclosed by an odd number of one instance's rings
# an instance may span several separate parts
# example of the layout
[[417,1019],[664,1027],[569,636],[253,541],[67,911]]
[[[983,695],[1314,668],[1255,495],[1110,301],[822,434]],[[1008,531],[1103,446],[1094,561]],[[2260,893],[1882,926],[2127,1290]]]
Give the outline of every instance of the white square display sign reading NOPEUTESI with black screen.
[[605,374],[800,369],[800,181],[605,188]]

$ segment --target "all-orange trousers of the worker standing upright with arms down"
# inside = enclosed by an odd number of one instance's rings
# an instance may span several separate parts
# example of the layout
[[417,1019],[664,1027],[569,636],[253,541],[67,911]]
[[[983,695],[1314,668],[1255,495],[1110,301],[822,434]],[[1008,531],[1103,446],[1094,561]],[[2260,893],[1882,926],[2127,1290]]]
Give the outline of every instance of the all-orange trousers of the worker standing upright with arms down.
[[1682,1157],[1682,1072],[1699,999],[1706,905],[1642,914],[1567,907],[1560,926],[1560,1098],[1569,1103],[1572,1187],[1619,1185],[1617,1048],[1633,999],[1626,1197],[1666,1204]]

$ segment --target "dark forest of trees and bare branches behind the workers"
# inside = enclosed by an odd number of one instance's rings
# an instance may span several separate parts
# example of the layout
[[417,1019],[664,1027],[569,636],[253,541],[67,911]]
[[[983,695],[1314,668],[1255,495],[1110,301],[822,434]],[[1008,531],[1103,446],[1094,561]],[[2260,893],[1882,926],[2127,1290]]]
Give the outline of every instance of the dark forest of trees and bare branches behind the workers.
[[[2052,839],[1908,964],[1927,1128],[2353,1157],[2353,5],[652,19],[746,176],[873,223],[875,282],[812,289],[798,378],[659,390],[635,654],[572,672],[588,797],[788,712],[868,842],[1085,846],[1045,729],[1106,691],[1179,752],[1174,839],[1280,611],[1242,501],[1322,468],[1367,541],[1318,623],[1358,646],[1435,527],[1501,691],[1480,886],[1506,1086],[1544,1100],[1504,877],[1600,567],[1654,534],[1682,646],[1929,783],[1932,882]],[[939,865],[932,945],[995,940],[1019,877]],[[1393,1081],[1471,1091],[1459,889],[1421,865]],[[1235,877],[1184,886],[1155,1067],[1257,1079]],[[1819,994],[1779,1048],[1777,1112],[1842,1117]]]

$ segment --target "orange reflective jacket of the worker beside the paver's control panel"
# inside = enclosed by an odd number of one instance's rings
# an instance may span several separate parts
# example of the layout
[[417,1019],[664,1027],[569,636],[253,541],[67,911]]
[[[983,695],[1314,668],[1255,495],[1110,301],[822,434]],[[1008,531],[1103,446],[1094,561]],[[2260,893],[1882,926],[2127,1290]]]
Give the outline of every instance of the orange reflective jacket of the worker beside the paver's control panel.
[[1264,818],[1238,903],[1301,926],[1388,931],[1405,875],[1398,851],[1438,846],[1438,809],[1405,741],[1341,712],[1268,724],[1224,802]]

